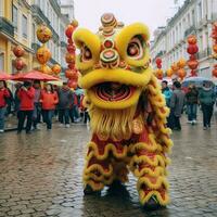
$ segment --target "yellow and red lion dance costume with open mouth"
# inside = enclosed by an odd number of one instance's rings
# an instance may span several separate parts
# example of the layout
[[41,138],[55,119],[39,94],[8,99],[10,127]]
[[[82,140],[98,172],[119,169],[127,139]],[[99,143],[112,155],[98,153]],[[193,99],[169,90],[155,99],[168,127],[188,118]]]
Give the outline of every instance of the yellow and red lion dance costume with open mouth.
[[149,29],[140,23],[124,27],[113,14],[101,17],[98,34],[80,28],[76,65],[86,90],[92,139],[84,170],[85,193],[114,181],[137,177],[140,202],[169,202],[166,154],[173,142],[166,127],[168,108],[150,66]]

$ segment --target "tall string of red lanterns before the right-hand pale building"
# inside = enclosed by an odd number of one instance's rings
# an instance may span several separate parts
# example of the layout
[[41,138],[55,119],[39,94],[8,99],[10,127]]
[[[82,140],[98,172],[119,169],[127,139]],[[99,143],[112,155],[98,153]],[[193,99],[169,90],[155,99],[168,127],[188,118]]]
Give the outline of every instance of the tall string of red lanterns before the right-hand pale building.
[[197,76],[196,69],[199,66],[199,61],[196,60],[196,53],[199,52],[199,47],[196,44],[197,42],[196,37],[194,35],[191,35],[188,37],[187,41],[189,43],[187,52],[190,54],[187,64],[191,68],[191,76]]

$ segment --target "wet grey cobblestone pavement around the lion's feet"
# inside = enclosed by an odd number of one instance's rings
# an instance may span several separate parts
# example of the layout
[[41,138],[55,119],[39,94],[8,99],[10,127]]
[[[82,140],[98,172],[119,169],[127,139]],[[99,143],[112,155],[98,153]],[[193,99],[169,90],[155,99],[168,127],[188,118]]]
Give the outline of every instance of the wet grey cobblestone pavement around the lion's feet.
[[136,180],[101,196],[84,196],[81,174],[87,126],[74,125],[31,135],[0,135],[0,216],[146,217],[217,216],[217,124],[182,120],[174,132],[169,166],[171,204],[155,212],[140,207]]

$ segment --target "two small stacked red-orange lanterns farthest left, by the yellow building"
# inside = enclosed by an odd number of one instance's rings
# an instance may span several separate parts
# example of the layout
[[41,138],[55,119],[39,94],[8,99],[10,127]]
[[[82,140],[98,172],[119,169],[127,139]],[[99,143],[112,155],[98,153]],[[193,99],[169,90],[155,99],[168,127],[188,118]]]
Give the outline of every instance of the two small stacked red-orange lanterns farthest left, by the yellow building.
[[14,61],[14,67],[16,68],[16,74],[21,73],[21,71],[26,66],[24,59],[22,58],[25,54],[23,47],[16,46],[13,49],[13,53],[16,56]]

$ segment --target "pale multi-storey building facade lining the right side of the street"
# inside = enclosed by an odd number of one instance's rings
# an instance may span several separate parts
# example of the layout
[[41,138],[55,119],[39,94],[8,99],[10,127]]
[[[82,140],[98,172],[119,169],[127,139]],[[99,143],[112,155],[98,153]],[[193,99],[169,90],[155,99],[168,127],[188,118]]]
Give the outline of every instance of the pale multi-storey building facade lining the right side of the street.
[[197,38],[199,46],[197,73],[200,76],[212,78],[214,60],[209,36],[214,21],[217,21],[217,0],[186,0],[167,25],[154,33],[154,41],[151,42],[154,67],[156,58],[162,59],[164,71],[180,58],[188,60],[187,37],[193,34]]

